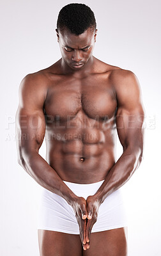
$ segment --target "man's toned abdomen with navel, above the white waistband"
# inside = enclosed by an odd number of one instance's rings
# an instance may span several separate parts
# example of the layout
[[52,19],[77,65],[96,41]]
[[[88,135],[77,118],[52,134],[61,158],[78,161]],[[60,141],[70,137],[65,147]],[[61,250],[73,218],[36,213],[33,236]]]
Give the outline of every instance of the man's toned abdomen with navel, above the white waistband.
[[106,140],[90,140],[89,136],[82,140],[82,134],[77,134],[75,138],[66,136],[65,140],[65,136],[57,134],[53,137],[52,131],[52,140],[46,140],[46,156],[47,162],[62,180],[89,184],[105,179],[115,163],[112,136],[108,136],[107,145]]

